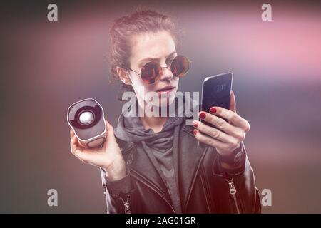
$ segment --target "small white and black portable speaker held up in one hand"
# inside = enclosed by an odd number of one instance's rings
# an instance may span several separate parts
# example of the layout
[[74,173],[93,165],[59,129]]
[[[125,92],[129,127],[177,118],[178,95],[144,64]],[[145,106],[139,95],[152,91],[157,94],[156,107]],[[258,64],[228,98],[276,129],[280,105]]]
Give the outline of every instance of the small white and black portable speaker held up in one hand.
[[79,100],[70,105],[67,121],[83,147],[98,147],[106,141],[103,107],[95,99]]

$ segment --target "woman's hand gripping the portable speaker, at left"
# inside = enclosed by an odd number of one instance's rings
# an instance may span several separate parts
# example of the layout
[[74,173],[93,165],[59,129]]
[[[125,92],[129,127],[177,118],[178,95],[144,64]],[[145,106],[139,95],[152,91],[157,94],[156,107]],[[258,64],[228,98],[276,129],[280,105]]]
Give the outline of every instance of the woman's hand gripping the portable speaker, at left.
[[106,122],[106,142],[102,147],[85,148],[81,146],[78,139],[70,130],[71,153],[84,163],[103,168],[108,181],[120,180],[126,176],[126,165],[118,147],[116,138],[113,135],[113,126]]

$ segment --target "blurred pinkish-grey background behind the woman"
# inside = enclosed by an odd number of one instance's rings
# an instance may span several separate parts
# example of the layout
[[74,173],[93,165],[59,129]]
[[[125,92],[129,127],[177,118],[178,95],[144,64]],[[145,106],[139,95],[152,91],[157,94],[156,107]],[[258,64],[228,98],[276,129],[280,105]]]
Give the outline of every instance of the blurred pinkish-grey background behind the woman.
[[[58,21],[47,6],[58,6]],[[261,6],[272,6],[263,21]],[[108,83],[113,20],[137,6],[165,11],[185,31],[193,61],[179,90],[234,73],[237,112],[264,213],[321,213],[321,6],[314,1],[1,1],[2,213],[104,213],[98,168],[69,147],[66,110],[96,98],[116,126],[118,85]],[[47,191],[58,191],[49,207]]]

